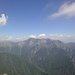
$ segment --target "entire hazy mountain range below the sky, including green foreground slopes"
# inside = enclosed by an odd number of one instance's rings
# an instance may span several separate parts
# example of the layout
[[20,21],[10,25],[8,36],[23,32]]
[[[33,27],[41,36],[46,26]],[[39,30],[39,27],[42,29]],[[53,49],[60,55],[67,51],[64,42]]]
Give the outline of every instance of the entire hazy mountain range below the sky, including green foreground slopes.
[[75,75],[75,43],[33,38],[0,42],[0,75]]

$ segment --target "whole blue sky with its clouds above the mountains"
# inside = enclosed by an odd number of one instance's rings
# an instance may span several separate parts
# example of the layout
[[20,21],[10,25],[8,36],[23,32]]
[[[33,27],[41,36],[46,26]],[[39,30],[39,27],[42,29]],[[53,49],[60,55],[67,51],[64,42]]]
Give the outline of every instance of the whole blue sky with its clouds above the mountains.
[[75,0],[0,0],[0,40],[28,37],[75,42]]

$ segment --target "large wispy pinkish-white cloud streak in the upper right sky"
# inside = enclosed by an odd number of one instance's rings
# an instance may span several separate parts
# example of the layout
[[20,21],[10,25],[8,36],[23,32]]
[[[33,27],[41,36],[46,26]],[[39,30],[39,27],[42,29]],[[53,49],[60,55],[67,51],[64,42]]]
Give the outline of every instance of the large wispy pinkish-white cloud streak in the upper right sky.
[[60,16],[75,17],[75,2],[66,2],[60,6],[57,12],[48,16],[48,18],[56,18]]

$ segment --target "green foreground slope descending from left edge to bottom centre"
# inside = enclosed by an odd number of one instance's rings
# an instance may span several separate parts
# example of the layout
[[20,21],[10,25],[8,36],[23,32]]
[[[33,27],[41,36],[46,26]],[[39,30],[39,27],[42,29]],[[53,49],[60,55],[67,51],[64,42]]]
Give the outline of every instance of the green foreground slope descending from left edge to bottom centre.
[[0,75],[48,75],[32,63],[28,63],[21,57],[0,53]]

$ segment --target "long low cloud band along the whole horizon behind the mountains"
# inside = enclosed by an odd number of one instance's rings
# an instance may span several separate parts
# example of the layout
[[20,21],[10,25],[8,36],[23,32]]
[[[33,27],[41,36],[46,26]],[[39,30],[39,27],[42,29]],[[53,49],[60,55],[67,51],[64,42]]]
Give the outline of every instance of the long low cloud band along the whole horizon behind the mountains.
[[63,34],[39,34],[39,35],[30,35],[29,37],[13,37],[13,36],[0,36],[0,41],[24,41],[28,38],[35,38],[35,39],[52,39],[52,40],[60,40],[63,42],[75,42],[75,36],[72,35],[63,35]]

